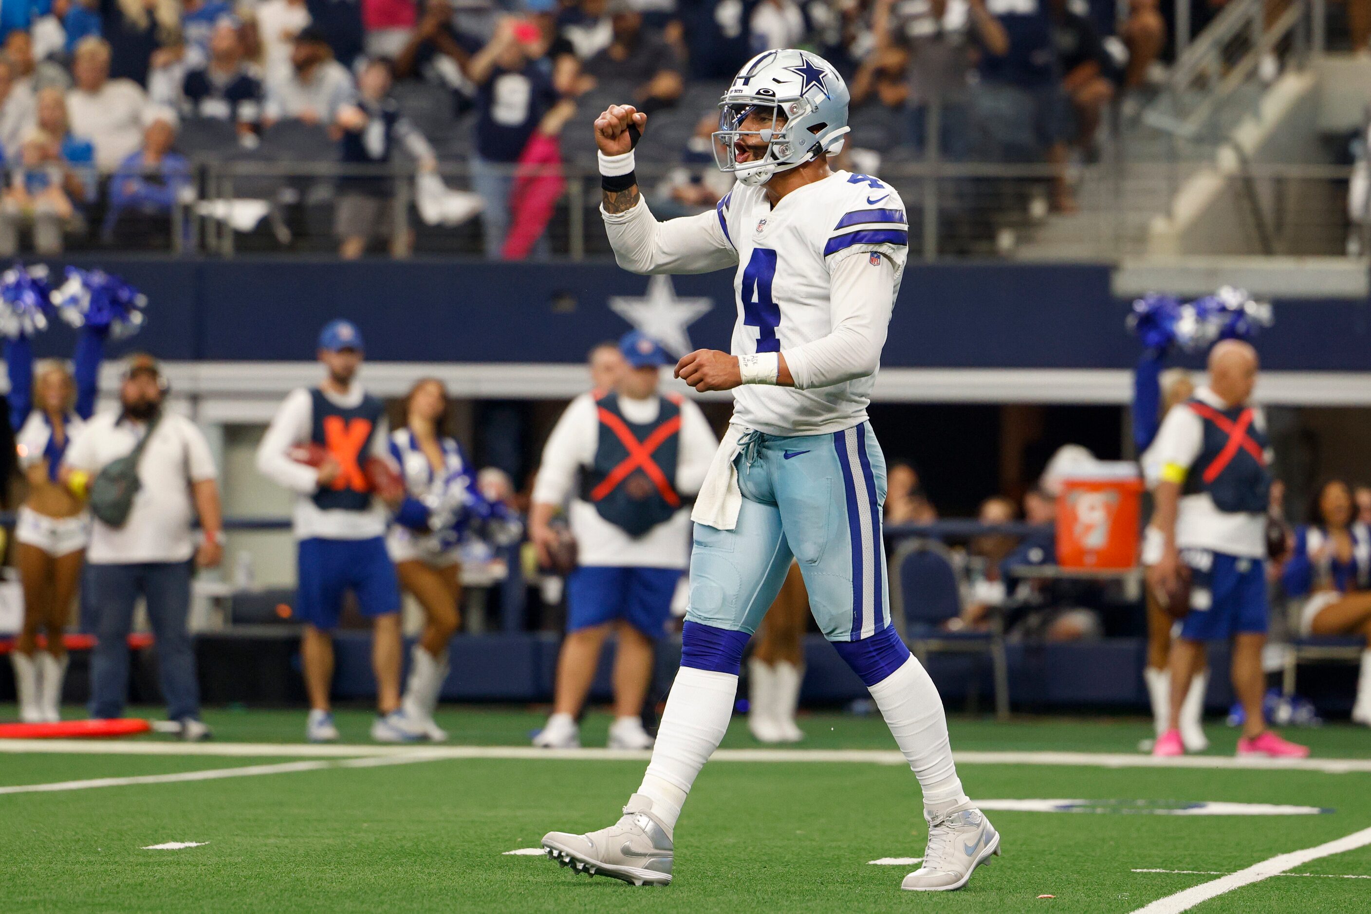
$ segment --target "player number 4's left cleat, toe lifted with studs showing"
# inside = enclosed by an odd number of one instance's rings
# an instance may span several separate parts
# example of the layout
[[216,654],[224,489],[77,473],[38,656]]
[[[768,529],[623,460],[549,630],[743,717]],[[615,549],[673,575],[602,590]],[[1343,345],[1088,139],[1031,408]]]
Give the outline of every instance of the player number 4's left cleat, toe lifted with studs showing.
[[670,885],[672,839],[642,793],[628,798],[624,818],[590,835],[548,832],[547,855],[588,876],[609,876],[633,885]]

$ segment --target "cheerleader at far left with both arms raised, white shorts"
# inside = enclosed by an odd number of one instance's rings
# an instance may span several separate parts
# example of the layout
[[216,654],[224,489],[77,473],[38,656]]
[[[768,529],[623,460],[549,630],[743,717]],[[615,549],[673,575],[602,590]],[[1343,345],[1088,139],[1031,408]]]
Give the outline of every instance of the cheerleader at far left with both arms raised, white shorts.
[[[77,340],[74,370],[44,360],[34,370],[26,334],[7,340],[10,425],[29,497],[15,522],[15,562],[23,585],[23,629],[10,660],[19,696],[19,719],[60,719],[67,652],[62,643],[85,559],[90,517],[58,482],[58,466],[71,439],[95,410],[103,349],[101,332],[85,328]],[[47,636],[38,650],[38,634]]]

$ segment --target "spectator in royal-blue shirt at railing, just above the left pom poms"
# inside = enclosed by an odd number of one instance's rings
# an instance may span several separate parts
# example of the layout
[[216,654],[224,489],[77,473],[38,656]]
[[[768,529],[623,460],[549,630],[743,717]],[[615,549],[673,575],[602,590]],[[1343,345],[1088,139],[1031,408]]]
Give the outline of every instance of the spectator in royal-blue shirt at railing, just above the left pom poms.
[[110,178],[110,211],[101,236],[145,241],[169,238],[171,210],[189,186],[185,156],[171,152],[175,143],[175,115],[152,107],[144,116],[143,148],[130,155]]

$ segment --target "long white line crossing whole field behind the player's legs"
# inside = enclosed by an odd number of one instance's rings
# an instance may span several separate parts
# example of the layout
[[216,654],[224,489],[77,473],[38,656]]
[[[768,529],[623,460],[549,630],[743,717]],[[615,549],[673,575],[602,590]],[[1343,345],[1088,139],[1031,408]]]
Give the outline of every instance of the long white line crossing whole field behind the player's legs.
[[[647,761],[646,750],[543,750],[532,745],[343,745],[310,743],[159,743],[133,740],[106,743],[89,740],[0,740],[3,752],[56,752],[74,755],[202,755],[219,758],[307,758],[337,759],[359,756],[446,759],[539,759],[576,762]],[[894,750],[717,750],[710,761],[720,762],[858,762],[906,765]],[[1208,770],[1319,771],[1323,774],[1371,773],[1371,759],[1264,759],[1230,755],[1180,755],[1153,758],[1141,752],[953,752],[958,765],[1056,765],[1064,767],[1169,767]]]

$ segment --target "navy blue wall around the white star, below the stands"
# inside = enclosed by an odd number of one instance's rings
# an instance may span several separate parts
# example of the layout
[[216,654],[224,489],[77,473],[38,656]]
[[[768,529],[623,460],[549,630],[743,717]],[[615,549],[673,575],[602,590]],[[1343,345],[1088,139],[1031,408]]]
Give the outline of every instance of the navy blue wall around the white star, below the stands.
[[[610,296],[640,296],[647,280],[609,263],[167,260],[106,258],[151,299],[134,341],[166,359],[313,358],[328,319],[355,319],[373,359],[579,362],[627,323]],[[691,328],[696,345],[725,348],[732,274],[676,277],[677,295],[714,308]],[[891,367],[1123,369],[1138,345],[1128,303],[1109,296],[1105,266],[910,264],[883,362]],[[70,336],[40,348],[70,352]],[[1276,303],[1261,337],[1264,366],[1371,370],[1367,300]]]

